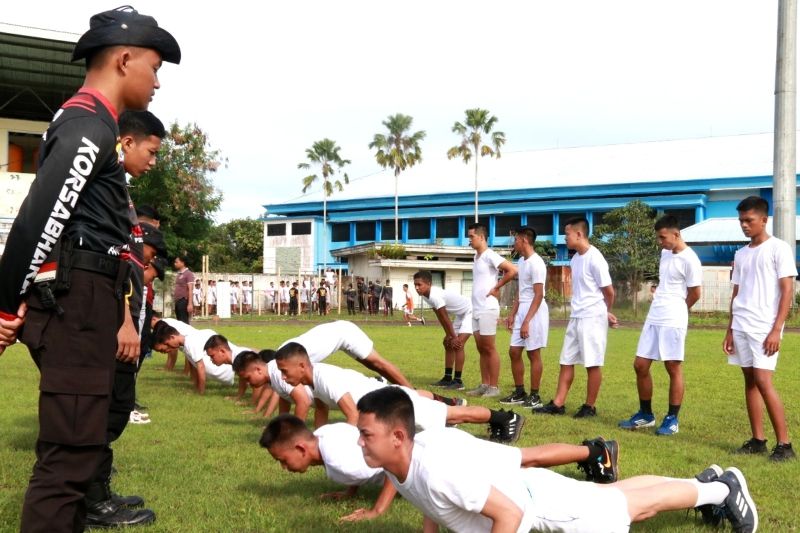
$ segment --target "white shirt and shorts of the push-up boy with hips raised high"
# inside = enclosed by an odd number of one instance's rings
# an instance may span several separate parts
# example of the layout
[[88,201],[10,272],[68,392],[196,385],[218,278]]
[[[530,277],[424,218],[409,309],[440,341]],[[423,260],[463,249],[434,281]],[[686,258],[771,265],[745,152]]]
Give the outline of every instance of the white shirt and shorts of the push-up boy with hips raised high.
[[290,342],[296,342],[305,348],[312,363],[319,363],[339,350],[353,359],[366,359],[373,349],[372,340],[367,334],[346,320],[315,326],[302,335],[284,342],[278,349]]

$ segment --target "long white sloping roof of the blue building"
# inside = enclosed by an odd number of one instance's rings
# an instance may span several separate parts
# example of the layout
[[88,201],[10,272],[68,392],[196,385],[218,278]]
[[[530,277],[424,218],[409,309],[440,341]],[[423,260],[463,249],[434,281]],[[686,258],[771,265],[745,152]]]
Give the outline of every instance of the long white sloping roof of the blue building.
[[[772,155],[772,133],[511,152],[500,159],[480,159],[478,187],[483,193],[772,176]],[[354,199],[391,198],[393,203],[393,180],[391,170],[354,179],[328,199],[328,207]],[[415,205],[418,195],[471,191],[473,163],[444,156],[427,156],[399,180],[399,195],[407,205]],[[274,206],[316,202],[322,202],[320,190]],[[265,207],[270,211],[272,206]]]

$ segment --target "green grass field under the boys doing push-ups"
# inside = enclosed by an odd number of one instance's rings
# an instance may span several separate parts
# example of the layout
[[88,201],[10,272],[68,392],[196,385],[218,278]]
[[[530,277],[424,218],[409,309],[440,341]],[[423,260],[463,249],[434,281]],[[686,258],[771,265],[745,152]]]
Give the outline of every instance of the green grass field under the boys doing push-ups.
[[[309,324],[292,325],[265,322],[255,326],[219,326],[220,333],[239,345],[275,347],[295,336]],[[394,361],[419,387],[438,379],[442,371],[441,330],[437,326],[405,327],[385,324],[364,326],[376,349]],[[554,393],[558,374],[558,353],[562,328],[550,332],[550,348],[544,352],[545,375],[542,397]],[[638,330],[621,328],[609,335],[603,389],[598,401],[598,417],[573,420],[571,417],[533,417],[527,423],[519,446],[546,442],[578,443],[603,435],[620,442],[623,477],[657,473],[688,477],[712,462],[723,467],[736,465],[748,477],[751,492],[760,511],[761,531],[800,530],[794,498],[798,487],[800,462],[771,464],[766,457],[741,457],[731,453],[749,437],[744,409],[740,371],[726,364],[721,352],[722,332],[690,330],[685,366],[687,392],[681,411],[681,431],[671,438],[657,438],[650,432],[618,430],[617,421],[636,410],[636,388],[631,362]],[[499,332],[504,391],[511,386],[504,355],[508,333]],[[789,427],[796,434],[800,425],[800,361],[797,353],[800,335],[789,333],[784,339],[776,384],[787,408]],[[407,502],[395,501],[376,521],[338,524],[338,517],[370,506],[377,488],[362,490],[354,501],[320,501],[322,492],[336,487],[325,479],[322,468],[304,475],[283,472],[257,439],[264,425],[243,413],[224,396],[228,388],[212,384],[204,397],[192,393],[188,380],[179,373],[162,370],[164,357],[149,359],[139,376],[139,400],[149,407],[153,422],[128,426],[115,443],[119,474],[114,487],[120,493],[143,496],[157,514],[156,523],[143,529],[157,532],[305,532],[305,531],[387,531],[410,532],[421,529],[419,513]],[[348,357],[337,354],[328,362],[358,368]],[[363,367],[361,367],[363,368]],[[653,366],[656,416],[666,409],[666,373]],[[468,387],[478,379],[477,352],[471,342],[467,353],[465,381]],[[36,439],[38,373],[22,346],[0,357],[0,531],[16,531],[22,496],[33,464]],[[567,402],[569,412],[582,403],[585,374],[576,380]],[[471,403],[491,405],[488,401]],[[336,417],[336,413],[333,417]],[[660,421],[660,420],[659,420]],[[462,429],[485,434],[484,427]],[[774,434],[767,428],[769,446]],[[477,459],[477,458],[476,458]],[[464,468],[469,468],[465,462]],[[574,467],[560,472],[578,476]],[[663,514],[633,531],[706,531],[693,513]]]

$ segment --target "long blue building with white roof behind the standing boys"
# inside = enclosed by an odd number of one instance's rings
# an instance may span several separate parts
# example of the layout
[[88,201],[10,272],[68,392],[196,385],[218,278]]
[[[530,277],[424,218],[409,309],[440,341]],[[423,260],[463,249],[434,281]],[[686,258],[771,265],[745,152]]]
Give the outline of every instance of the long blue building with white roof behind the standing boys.
[[[483,158],[479,161],[479,218],[489,227],[493,247],[509,247],[509,231],[529,225],[540,240],[556,246],[557,261],[566,261],[564,224],[568,219],[583,216],[594,226],[605,213],[631,200],[675,215],[683,228],[735,217],[736,204],[749,195],[760,195],[771,204],[772,143],[770,133]],[[400,175],[398,241],[406,247],[409,261],[470,261],[471,251],[465,247],[466,227],[474,219],[474,167],[428,158]],[[393,179],[391,172],[382,172],[351,182],[342,193],[329,197],[327,231],[321,193],[265,205],[265,271],[276,271],[282,247],[303,247],[298,253],[304,258],[304,272],[326,264],[364,275],[355,271],[356,257],[395,240]],[[301,234],[291,242],[295,228]],[[708,241],[698,249],[704,264],[730,262],[735,243],[714,246],[713,235],[702,233],[702,238]],[[743,236],[740,241],[745,242]]]

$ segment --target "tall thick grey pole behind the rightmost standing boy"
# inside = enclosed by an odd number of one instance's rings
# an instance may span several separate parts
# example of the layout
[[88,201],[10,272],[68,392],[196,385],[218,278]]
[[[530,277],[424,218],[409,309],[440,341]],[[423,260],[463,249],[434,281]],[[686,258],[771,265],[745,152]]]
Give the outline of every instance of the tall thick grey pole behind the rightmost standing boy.
[[773,230],[797,257],[797,0],[778,0],[773,148]]

